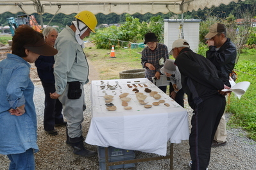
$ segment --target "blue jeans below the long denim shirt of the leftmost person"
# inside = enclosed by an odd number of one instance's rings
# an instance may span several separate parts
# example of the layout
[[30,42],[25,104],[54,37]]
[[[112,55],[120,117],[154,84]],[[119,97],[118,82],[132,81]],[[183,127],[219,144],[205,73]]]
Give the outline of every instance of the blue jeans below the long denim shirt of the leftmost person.
[[35,170],[35,157],[32,148],[24,153],[10,154],[7,157],[11,160],[9,170]]

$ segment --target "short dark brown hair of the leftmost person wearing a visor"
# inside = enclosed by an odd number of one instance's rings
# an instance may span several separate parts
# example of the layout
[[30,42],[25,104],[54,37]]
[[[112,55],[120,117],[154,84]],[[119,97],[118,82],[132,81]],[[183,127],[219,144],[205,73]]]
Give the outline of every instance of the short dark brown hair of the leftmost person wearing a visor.
[[19,26],[12,38],[12,54],[21,58],[26,58],[26,48],[24,46],[35,44],[42,38],[44,38],[42,33],[35,31],[32,27],[27,25]]

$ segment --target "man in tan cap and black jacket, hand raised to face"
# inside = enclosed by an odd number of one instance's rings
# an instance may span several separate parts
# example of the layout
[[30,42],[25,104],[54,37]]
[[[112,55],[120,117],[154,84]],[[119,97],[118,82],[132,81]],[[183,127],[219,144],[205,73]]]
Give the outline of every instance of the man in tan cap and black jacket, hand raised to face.
[[[230,73],[235,66],[235,58],[237,56],[237,50],[234,43],[230,38],[226,37],[226,27],[224,24],[215,23],[210,26],[210,31],[205,38],[209,50],[206,52],[206,58],[209,59],[217,68],[225,75],[225,79],[230,79]],[[231,86],[229,82],[225,84]],[[225,112],[225,111],[224,111]],[[221,117],[218,129],[212,141],[212,147],[225,146],[226,145],[226,120],[225,114]]]

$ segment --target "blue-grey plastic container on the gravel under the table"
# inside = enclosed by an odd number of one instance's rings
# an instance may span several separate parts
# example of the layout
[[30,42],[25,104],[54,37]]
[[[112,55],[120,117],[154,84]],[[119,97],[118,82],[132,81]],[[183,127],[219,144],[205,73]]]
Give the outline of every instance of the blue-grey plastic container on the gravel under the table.
[[[98,157],[99,157],[99,169],[106,169],[105,160],[105,148],[98,146]],[[119,148],[114,148],[112,146],[108,147],[108,162],[116,162],[121,160],[132,160],[135,158],[135,153],[133,150],[123,150]],[[122,164],[116,166],[109,166],[108,169],[118,169],[118,168],[128,168],[135,167],[135,164]]]

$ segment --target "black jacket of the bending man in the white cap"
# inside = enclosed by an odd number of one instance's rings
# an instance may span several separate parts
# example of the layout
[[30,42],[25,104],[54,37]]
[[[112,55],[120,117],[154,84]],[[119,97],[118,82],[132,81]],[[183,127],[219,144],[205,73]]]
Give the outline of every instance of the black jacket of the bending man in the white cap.
[[[184,48],[175,60],[182,75],[182,88],[192,109],[224,88],[225,79],[209,59]],[[223,96],[224,97],[224,96]]]

